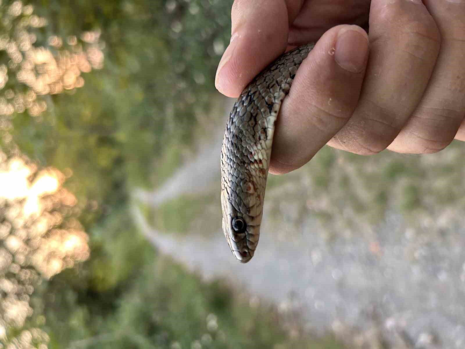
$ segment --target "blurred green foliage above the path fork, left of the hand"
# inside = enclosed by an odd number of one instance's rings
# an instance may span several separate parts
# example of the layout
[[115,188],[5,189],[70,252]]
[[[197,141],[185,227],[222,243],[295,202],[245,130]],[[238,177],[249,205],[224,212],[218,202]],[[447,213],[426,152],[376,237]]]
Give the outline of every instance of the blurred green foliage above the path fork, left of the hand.
[[42,122],[15,115],[15,142],[41,164],[71,168],[69,185],[86,200],[126,200],[128,186],[159,182],[158,167],[166,178],[157,160],[178,165],[196,112],[209,110],[213,47],[228,40],[231,1],[32,4],[49,21],[37,45],[47,46],[46,34],[98,29],[105,67],[86,74],[84,88],[50,96]]

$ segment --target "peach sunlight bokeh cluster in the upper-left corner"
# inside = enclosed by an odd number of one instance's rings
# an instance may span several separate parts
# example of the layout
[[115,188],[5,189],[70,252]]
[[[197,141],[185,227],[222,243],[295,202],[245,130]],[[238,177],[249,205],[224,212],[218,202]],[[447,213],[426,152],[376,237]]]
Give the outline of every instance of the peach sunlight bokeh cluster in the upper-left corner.
[[[75,36],[68,37],[67,48],[56,35],[48,38],[50,47],[34,47],[37,36],[30,29],[45,27],[47,21],[33,14],[32,5],[24,6],[20,0],[7,7],[0,21],[10,30],[10,34],[0,36],[0,51],[5,51],[9,58],[7,65],[0,65],[0,116],[25,111],[39,116],[47,103],[38,95],[60,94],[83,87],[81,73],[103,67],[104,44],[100,42],[99,31],[84,32],[80,41]],[[5,88],[11,75],[20,85]]]

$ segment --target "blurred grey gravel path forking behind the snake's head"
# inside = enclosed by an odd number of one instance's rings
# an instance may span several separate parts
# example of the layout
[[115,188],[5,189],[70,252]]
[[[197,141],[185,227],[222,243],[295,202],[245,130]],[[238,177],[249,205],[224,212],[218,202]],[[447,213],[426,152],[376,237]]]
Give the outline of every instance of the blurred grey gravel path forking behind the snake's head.
[[[220,140],[204,149],[165,186],[136,196],[157,206],[190,188],[208,188],[218,181]],[[269,218],[270,202],[276,205],[282,191],[267,192],[259,246],[245,265],[235,261],[220,230],[177,238],[151,228],[137,209],[134,216],[163,253],[205,278],[226,277],[251,302],[263,298],[283,313],[298,310],[308,330],[350,337],[360,348],[383,348],[381,339],[392,348],[465,348],[463,228],[422,233],[389,212],[370,233],[328,238],[311,215],[295,222],[292,207]]]

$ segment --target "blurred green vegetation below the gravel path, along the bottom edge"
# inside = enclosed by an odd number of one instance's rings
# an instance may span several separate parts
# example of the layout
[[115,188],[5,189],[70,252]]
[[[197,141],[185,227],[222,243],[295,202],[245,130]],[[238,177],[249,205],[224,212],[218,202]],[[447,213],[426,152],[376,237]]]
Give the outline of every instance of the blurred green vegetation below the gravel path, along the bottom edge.
[[87,277],[69,269],[47,288],[50,348],[343,348],[332,336],[308,334],[298,315],[160,255],[125,212],[94,232]]

